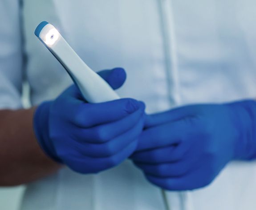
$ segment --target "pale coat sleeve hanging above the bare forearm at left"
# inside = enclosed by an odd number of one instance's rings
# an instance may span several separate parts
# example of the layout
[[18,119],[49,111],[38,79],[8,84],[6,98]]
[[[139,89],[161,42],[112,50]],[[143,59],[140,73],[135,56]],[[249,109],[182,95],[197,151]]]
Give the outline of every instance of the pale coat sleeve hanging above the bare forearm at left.
[[22,107],[20,0],[0,1],[0,109]]

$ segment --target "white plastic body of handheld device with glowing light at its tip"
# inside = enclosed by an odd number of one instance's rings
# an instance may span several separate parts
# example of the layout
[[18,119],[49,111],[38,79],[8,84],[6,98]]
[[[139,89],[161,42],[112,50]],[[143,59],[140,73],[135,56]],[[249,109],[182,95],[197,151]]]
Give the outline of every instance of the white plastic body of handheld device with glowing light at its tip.
[[102,103],[120,99],[110,85],[85,64],[52,24],[41,28],[38,38],[69,73],[86,101]]

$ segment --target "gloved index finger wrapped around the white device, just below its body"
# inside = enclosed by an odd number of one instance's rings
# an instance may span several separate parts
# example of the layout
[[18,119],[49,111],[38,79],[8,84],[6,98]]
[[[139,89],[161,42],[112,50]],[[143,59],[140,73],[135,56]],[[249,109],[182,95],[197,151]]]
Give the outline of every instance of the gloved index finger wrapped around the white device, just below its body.
[[138,109],[145,109],[145,104],[135,99],[118,99],[104,103],[83,103],[72,117],[79,127],[93,127],[120,120]]

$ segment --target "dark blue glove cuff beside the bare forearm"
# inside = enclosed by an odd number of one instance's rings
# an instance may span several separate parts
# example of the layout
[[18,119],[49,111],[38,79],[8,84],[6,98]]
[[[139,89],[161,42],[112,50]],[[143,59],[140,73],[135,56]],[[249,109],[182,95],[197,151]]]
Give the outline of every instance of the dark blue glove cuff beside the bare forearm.
[[49,110],[51,104],[52,101],[47,101],[37,107],[33,117],[33,129],[37,137],[37,142],[45,154],[54,161],[61,162],[49,138]]

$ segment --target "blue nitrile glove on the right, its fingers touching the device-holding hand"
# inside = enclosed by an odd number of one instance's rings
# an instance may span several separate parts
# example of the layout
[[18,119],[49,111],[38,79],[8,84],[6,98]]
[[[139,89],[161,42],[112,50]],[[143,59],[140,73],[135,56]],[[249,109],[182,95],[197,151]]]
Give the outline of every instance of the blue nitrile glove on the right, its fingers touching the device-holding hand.
[[229,161],[256,158],[256,102],[191,105],[148,115],[131,158],[164,189],[207,186]]

